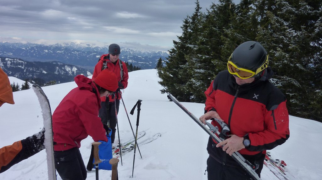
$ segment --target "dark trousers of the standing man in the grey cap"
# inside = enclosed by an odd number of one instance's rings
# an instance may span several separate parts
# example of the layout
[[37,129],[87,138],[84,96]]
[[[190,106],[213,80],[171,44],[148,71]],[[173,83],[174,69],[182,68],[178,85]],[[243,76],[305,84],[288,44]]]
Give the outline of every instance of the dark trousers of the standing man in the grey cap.
[[101,102],[101,108],[99,109],[99,117],[102,120],[103,124],[108,124],[109,127],[112,129],[111,134],[111,143],[114,143],[115,140],[115,132],[116,132],[116,114],[115,114],[115,103],[116,103],[116,110],[118,113],[118,109],[120,106],[120,100],[115,100],[116,102],[108,102],[108,98],[106,102]]

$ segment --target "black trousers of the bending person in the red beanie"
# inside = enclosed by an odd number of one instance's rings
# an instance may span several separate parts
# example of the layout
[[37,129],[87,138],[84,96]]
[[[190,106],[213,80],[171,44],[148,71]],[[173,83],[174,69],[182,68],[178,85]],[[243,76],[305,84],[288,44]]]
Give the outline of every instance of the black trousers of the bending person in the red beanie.
[[79,148],[54,151],[55,166],[62,180],[85,180],[87,172]]

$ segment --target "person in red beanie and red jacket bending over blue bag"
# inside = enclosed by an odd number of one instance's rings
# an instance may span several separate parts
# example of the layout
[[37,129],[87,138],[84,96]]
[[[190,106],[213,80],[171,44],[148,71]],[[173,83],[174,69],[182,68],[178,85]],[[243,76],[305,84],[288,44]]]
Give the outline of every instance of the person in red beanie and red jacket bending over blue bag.
[[106,143],[106,131],[98,117],[100,97],[118,89],[116,75],[103,70],[95,78],[75,77],[78,87],[72,89],[52,114],[55,166],[63,180],[85,180],[86,167],[79,148],[90,135],[94,141]]

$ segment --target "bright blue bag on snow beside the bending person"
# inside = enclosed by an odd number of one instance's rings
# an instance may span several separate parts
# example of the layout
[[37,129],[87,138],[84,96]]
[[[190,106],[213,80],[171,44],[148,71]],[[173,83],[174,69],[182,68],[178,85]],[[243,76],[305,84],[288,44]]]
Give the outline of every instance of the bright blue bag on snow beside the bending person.
[[[112,156],[112,143],[111,143],[112,129],[109,129],[109,134],[106,135],[108,141],[99,141],[99,159],[102,161],[99,163],[99,169],[112,170],[112,165],[109,164],[109,160],[113,158]],[[93,159],[93,162],[95,158]],[[93,167],[95,169],[95,166]]]

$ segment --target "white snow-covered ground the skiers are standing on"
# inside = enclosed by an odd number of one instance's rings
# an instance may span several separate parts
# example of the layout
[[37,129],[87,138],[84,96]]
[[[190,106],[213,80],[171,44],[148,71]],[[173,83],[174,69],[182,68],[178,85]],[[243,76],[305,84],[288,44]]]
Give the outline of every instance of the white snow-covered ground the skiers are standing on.
[[[10,77],[12,80],[12,77]],[[137,151],[132,176],[133,151],[122,156],[118,164],[119,179],[140,180],[203,180],[208,153],[205,133],[175,103],[169,102],[166,94],[161,94],[156,70],[139,70],[129,73],[128,88],[123,99],[127,111],[138,99],[143,100],[138,130],[146,131],[145,137],[161,133],[157,140],[140,146],[142,159]],[[12,83],[12,82],[11,82]],[[19,83],[20,84],[20,83]],[[62,98],[76,87],[74,82],[43,87],[51,103],[52,112]],[[43,118],[36,95],[32,89],[14,92],[15,104],[4,104],[0,108],[0,147],[33,135],[43,127]],[[204,112],[204,104],[183,103],[196,117]],[[132,127],[136,128],[137,110],[130,115]],[[271,150],[274,158],[284,160],[292,176],[290,180],[322,177],[322,123],[290,116],[290,138],[286,143]],[[118,114],[120,140],[133,137],[128,118],[120,104]],[[116,141],[118,141],[116,139]],[[81,142],[81,153],[85,164],[90,156],[92,138]],[[88,180],[95,180],[95,171],[88,173]],[[99,170],[99,179],[110,179],[111,171]],[[1,180],[43,180],[47,179],[46,152],[38,154],[14,165],[0,174]],[[58,177],[60,179],[60,177]],[[262,180],[277,180],[264,166]]]

